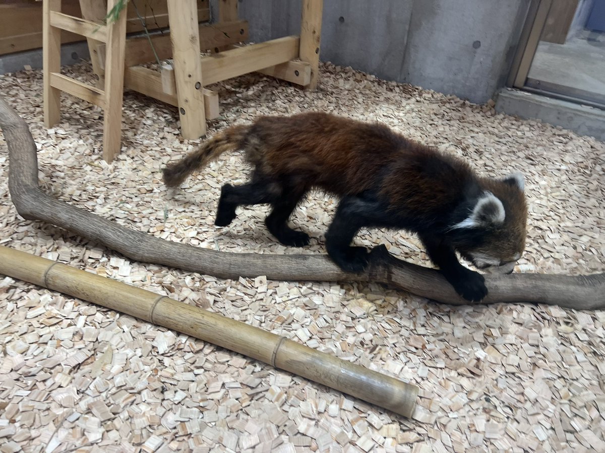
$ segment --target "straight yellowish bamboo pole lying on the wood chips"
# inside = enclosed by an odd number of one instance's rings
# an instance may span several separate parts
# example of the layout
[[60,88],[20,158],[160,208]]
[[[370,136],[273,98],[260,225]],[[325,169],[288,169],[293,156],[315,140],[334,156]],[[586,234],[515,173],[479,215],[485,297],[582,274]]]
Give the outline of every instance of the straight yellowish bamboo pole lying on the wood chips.
[[218,313],[0,246],[0,274],[136,316],[411,417],[419,388]]

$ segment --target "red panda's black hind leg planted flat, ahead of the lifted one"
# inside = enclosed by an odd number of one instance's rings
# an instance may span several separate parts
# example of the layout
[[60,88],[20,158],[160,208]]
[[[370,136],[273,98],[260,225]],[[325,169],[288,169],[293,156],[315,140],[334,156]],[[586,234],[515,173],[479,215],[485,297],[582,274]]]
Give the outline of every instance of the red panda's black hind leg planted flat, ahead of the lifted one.
[[287,224],[304,191],[284,187],[283,196],[273,202],[273,210],[265,219],[265,225],[273,236],[284,245],[302,247],[309,244],[309,234],[292,230]]

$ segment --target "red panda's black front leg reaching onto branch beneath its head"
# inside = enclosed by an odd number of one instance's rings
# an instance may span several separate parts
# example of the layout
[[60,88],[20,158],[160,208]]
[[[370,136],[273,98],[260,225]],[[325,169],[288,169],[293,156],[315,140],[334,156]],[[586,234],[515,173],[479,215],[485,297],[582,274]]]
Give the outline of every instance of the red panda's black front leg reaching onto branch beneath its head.
[[450,282],[458,294],[471,302],[479,302],[485,298],[488,294],[485,278],[479,272],[462,266],[452,246],[422,235],[420,239],[427,248],[431,261],[439,266],[443,277]]

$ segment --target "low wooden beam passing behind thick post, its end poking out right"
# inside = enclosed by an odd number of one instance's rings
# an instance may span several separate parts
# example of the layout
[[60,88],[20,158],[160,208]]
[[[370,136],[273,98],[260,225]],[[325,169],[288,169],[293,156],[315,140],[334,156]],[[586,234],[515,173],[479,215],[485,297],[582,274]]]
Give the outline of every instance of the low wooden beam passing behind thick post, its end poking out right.
[[[178,107],[176,94],[169,94],[163,90],[162,76],[153,69],[132,66],[124,70],[124,86],[133,91]],[[218,117],[218,94],[203,88],[204,113],[207,120]]]

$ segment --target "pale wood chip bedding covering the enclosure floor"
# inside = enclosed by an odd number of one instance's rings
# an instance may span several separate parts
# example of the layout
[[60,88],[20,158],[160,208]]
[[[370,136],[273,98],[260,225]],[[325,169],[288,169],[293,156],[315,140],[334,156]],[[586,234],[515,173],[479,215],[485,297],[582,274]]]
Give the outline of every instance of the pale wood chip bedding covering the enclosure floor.
[[[89,63],[64,68],[90,82]],[[605,271],[605,146],[538,121],[330,63],[318,91],[249,75],[211,87],[209,133],[257,115],[319,109],[377,120],[469,159],[491,176],[520,170],[530,203],[516,271]],[[59,199],[166,240],[224,251],[325,252],[335,200],[313,194],[293,223],[310,246],[286,248],[266,207],[213,224],[220,187],[242,182],[239,153],[180,190],[160,169],[193,149],[176,109],[126,93],[122,153],[100,157],[102,112],[62,95],[62,122],[42,124],[41,71],[0,76],[30,124],[43,187]],[[446,306],[378,284],[219,280],[129,262],[73,234],[28,222],[8,195],[0,136],[0,243],[263,327],[419,385],[413,419],[129,316],[0,277],[1,452],[605,451],[605,313],[558,307]],[[428,265],[415,237],[362,231]]]

